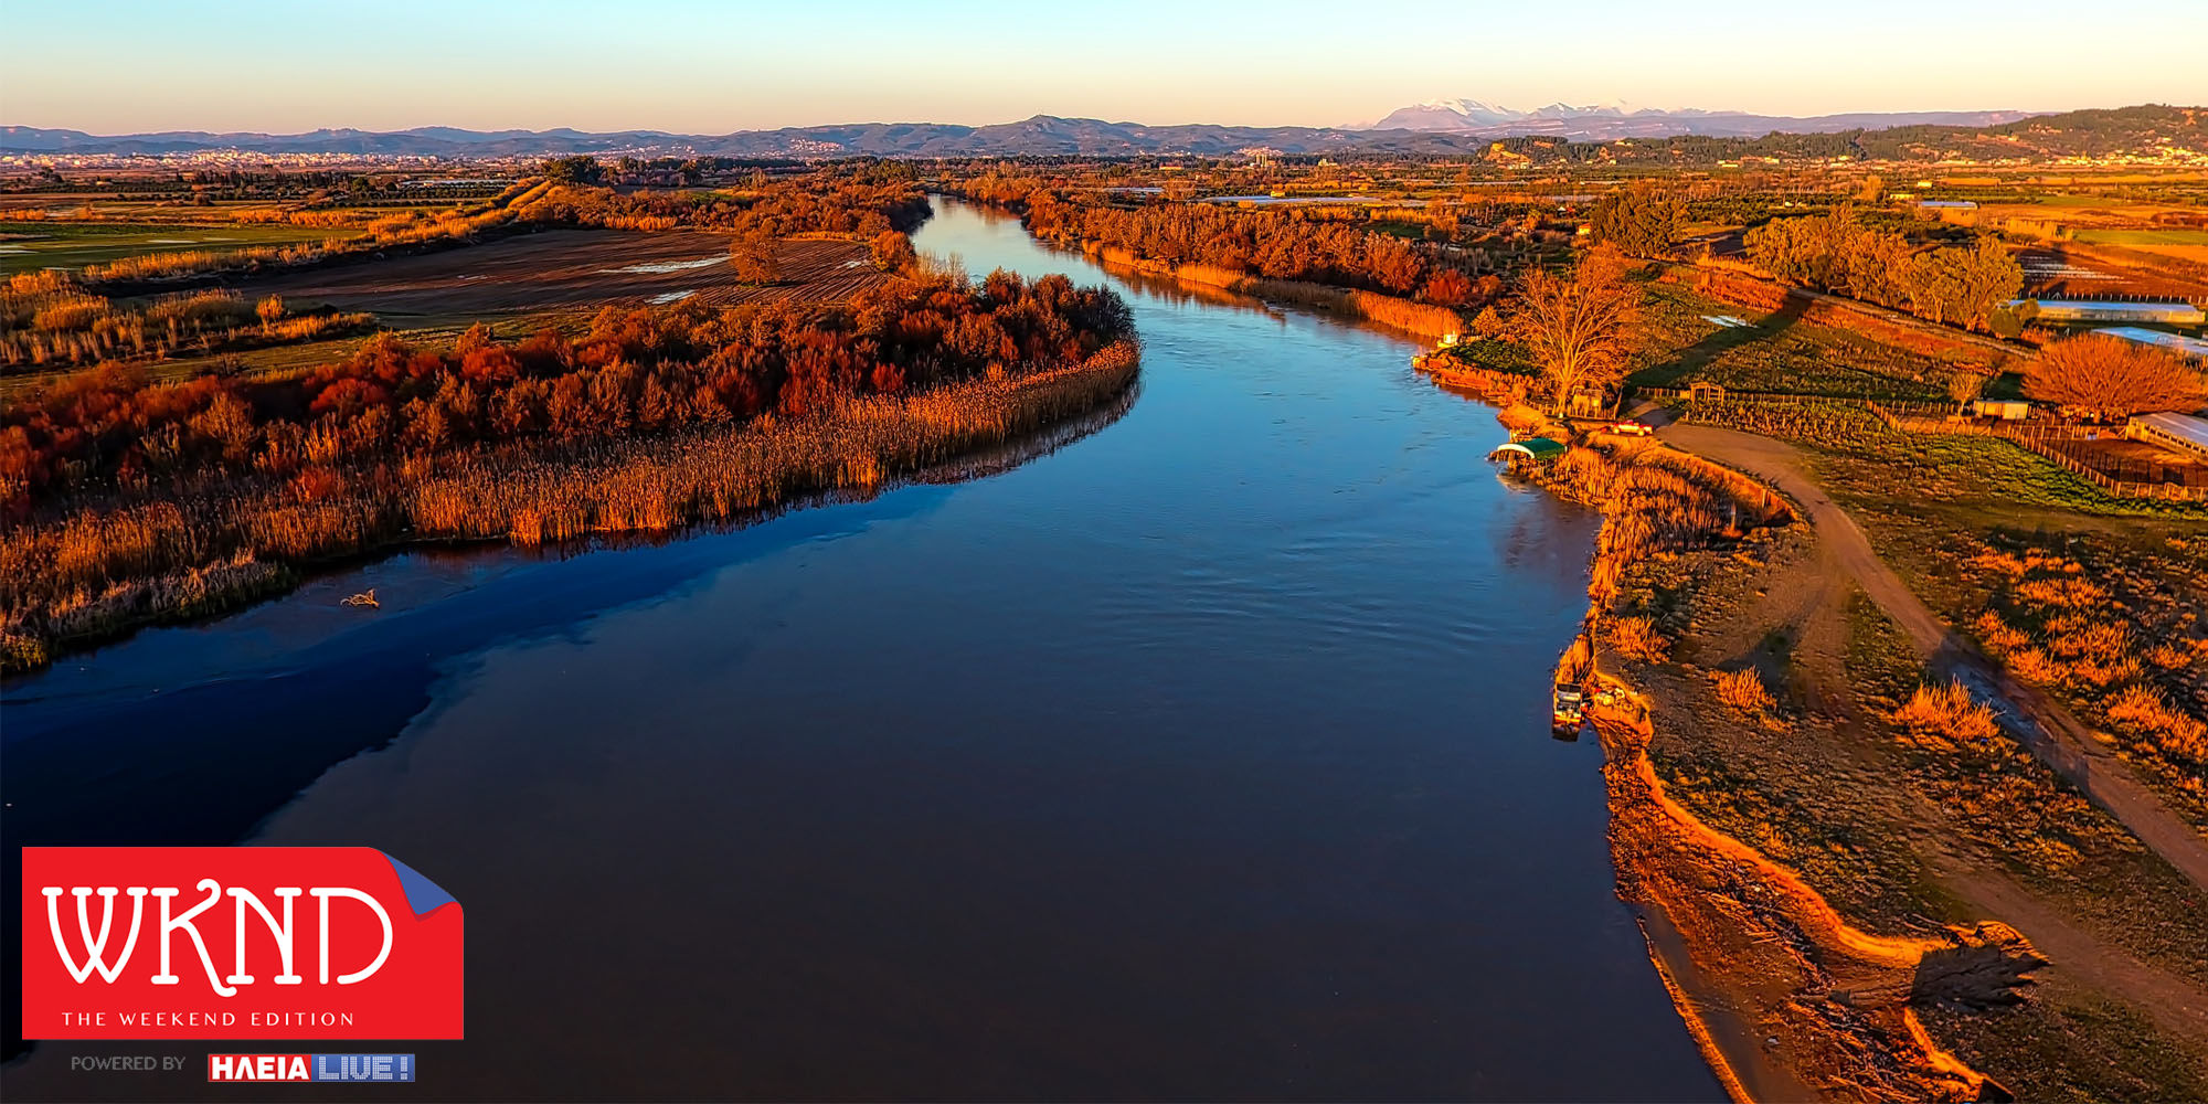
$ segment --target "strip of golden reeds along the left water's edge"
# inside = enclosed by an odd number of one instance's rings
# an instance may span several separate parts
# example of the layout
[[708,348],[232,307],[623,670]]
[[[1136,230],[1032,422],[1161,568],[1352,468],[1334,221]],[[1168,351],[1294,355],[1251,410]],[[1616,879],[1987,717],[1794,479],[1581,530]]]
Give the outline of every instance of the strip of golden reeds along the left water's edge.
[[22,583],[99,550],[238,548],[201,563],[108,583],[44,590],[0,629],[0,671],[44,667],[57,654],[146,625],[223,614],[298,583],[318,565],[446,541],[521,545],[592,534],[673,530],[843,488],[877,488],[963,453],[996,448],[1091,413],[1126,393],[1139,347],[1117,342],[1082,364],[969,380],[912,397],[854,397],[815,417],[762,415],[742,428],[550,448],[484,448],[355,473],[336,492],[300,501],[283,481],[241,481],[194,503],[152,503],[26,526],[0,545]]

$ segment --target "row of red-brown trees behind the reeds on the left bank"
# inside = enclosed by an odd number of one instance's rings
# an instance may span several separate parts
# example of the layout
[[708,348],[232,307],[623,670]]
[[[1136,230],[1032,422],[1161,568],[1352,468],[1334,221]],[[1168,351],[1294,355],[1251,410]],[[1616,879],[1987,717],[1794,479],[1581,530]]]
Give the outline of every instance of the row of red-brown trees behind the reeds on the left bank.
[[837,307],[607,307],[572,338],[501,340],[477,325],[450,349],[424,349],[382,333],[272,382],[152,384],[102,364],[0,411],[0,492],[18,519],[66,492],[232,473],[311,492],[316,468],[360,459],[810,415],[854,395],[1082,362],[1130,333],[1126,302],[1106,289],[996,272],[978,285],[892,280]]

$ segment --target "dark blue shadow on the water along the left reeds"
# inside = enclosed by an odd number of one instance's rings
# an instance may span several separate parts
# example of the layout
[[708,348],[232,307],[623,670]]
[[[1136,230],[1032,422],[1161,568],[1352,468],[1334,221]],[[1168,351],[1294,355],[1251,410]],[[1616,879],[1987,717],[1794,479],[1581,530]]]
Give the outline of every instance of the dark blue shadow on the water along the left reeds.
[[[7,839],[9,910],[0,921],[7,976],[18,976],[22,941],[22,848],[35,846],[219,846],[254,830],[333,764],[386,746],[431,709],[433,684],[475,651],[574,636],[592,618],[634,603],[680,598],[702,578],[795,541],[857,534],[868,526],[932,512],[949,484],[987,479],[1047,457],[1124,417],[1139,382],[1111,404],[1038,431],[1020,442],[967,453],[874,488],[810,495],[742,519],[673,532],[609,534],[545,548],[431,545],[320,572],[309,592],[256,603],[305,603],[338,585],[406,561],[484,567],[488,578],[420,607],[384,609],[373,620],[327,634],[258,669],[170,669],[177,687],[79,691],[68,682],[93,662],[124,662],[132,640],[0,684],[13,715],[0,731],[0,837]],[[890,495],[903,490],[903,495]],[[866,514],[821,506],[883,499]],[[790,517],[795,514],[795,517]],[[786,519],[773,532],[762,523]],[[662,550],[654,556],[620,556]],[[665,554],[671,552],[671,554]],[[574,556],[603,556],[596,570],[548,572]],[[320,583],[320,585],[318,585]],[[397,603],[393,603],[397,605]],[[225,616],[238,616],[232,612]],[[221,618],[214,618],[221,620]],[[194,627],[148,629],[192,634]],[[40,709],[24,713],[22,707]],[[86,802],[86,795],[99,795]],[[7,1009],[7,1058],[26,1053],[22,1007]]]

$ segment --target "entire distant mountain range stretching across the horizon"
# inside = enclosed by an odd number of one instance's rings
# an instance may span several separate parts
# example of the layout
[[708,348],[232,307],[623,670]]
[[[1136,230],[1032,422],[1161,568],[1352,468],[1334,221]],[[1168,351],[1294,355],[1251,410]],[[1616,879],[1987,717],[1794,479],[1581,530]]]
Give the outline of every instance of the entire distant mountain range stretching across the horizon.
[[[1325,126],[1144,126],[1102,119],[1036,115],[1016,124],[846,124],[733,135],[671,135],[665,130],[309,130],[258,135],[166,130],[157,135],[86,135],[82,130],[0,128],[0,152],[53,155],[170,155],[241,150],[267,155],[391,155],[391,157],[1225,157],[1270,150],[1278,155],[1504,155],[1532,161],[1709,161],[1742,155],[1771,157],[2042,157],[2115,155],[2170,148],[2208,150],[2201,108],[2137,106],[2029,115],[2016,110],[1775,115],[1702,110],[1630,110],[1623,104],[1515,113],[1471,99],[1446,99],[1395,110],[1371,128]],[[1676,163],[1676,161],[1674,161]]]

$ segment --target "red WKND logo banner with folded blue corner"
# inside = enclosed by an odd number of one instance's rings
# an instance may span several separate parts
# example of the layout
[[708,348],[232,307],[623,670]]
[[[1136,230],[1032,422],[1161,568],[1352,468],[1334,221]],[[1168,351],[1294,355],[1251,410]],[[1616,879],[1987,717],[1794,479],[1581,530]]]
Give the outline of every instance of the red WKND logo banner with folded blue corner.
[[459,901],[373,848],[24,848],[24,1038],[461,1038]]

